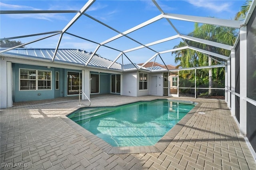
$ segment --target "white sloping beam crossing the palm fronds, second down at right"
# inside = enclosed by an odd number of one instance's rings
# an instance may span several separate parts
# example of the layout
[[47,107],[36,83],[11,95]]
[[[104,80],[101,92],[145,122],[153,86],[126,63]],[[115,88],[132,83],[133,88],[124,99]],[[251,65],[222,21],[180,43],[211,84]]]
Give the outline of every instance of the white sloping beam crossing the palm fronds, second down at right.
[[212,41],[209,41],[209,40],[204,40],[204,39],[195,38],[195,37],[191,37],[191,36],[186,36],[186,35],[182,35],[182,34],[179,35],[179,37],[184,38],[186,40],[191,40],[191,41],[194,41],[194,42],[204,43],[204,44],[207,44],[207,45],[211,45],[211,46],[214,46],[214,47],[219,47],[219,48],[223,48],[223,49],[227,49],[227,50],[231,50],[233,48],[233,46],[231,46],[231,45],[212,42]]

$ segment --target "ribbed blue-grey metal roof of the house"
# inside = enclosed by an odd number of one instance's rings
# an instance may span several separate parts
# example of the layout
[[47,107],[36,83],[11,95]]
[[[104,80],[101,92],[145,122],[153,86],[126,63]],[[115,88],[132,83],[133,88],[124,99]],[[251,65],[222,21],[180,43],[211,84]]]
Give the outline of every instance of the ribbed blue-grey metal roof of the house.
[[[6,49],[6,48],[1,48]],[[42,59],[46,61],[52,61],[52,56],[54,55],[55,49],[47,49],[47,48],[16,48],[11,49],[9,51],[4,52],[5,55],[15,55],[22,58],[31,58],[31,59]],[[56,53],[56,57],[54,58],[54,61],[63,62],[63,63],[73,63],[78,65],[85,65],[90,58],[91,53],[87,51],[83,51],[80,49],[58,49]],[[100,57],[98,55],[94,55],[90,62],[88,63],[88,66],[91,67],[101,67],[101,68],[108,68],[109,65],[113,61],[106,59],[104,57]],[[132,70],[137,69],[136,67],[140,67],[140,65],[137,64],[124,64],[124,70]],[[151,65],[152,67],[152,65]],[[151,71],[150,68],[142,67],[142,69]],[[122,64],[120,63],[114,63],[111,67],[111,69],[116,70],[122,70]],[[162,68],[158,67],[154,68],[152,70],[162,70]]]

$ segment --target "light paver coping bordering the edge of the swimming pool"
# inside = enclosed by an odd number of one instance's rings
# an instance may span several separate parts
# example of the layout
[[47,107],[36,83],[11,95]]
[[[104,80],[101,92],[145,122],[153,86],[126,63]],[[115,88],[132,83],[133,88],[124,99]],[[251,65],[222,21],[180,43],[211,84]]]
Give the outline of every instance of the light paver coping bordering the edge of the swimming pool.
[[[150,100],[150,101],[154,101],[154,100]],[[184,127],[184,125],[186,125],[188,120],[194,115],[194,113],[196,113],[196,111],[201,105],[201,103],[196,103],[193,101],[182,101],[182,100],[173,100],[173,99],[167,99],[167,100],[195,104],[195,107],[191,109],[174,127],[172,127],[156,144],[151,146],[112,146],[107,142],[105,142],[104,140],[102,140],[101,138],[99,138],[98,136],[96,136],[95,134],[81,127],[80,125],[78,125],[77,123],[69,119],[68,117],[60,117],[60,118],[64,122],[66,122],[69,126],[71,126],[76,131],[78,131],[82,136],[84,136],[90,142],[92,142],[92,144],[95,144],[98,148],[100,148],[107,154],[140,154],[140,153],[164,152],[164,150],[167,148],[170,142],[175,138],[178,132],[180,132],[180,130]],[[126,103],[126,104],[130,104],[130,103]],[[116,107],[116,106],[111,106],[111,107]]]

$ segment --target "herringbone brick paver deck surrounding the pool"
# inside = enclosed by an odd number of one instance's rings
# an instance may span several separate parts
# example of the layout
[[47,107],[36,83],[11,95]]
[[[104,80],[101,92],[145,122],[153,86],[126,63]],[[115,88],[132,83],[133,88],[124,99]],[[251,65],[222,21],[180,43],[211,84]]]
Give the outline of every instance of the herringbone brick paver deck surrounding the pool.
[[[168,139],[163,138],[158,145],[123,148],[106,144],[66,117],[81,107],[78,106],[77,98],[14,103],[14,107],[1,109],[0,113],[0,168],[256,169],[256,161],[244,138],[239,136],[238,125],[225,101],[157,96],[108,96],[92,98],[91,106],[121,105],[153,99],[194,101],[199,104],[189,113],[190,117],[182,119],[173,133],[167,135]],[[87,104],[88,101],[82,103]],[[10,167],[17,164],[27,167]]]

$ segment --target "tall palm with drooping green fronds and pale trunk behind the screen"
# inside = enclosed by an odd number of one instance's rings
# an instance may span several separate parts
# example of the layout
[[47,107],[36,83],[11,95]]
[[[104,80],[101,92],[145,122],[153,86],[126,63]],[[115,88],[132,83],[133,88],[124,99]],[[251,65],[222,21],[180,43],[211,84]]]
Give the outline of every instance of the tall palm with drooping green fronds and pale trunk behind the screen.
[[[224,43],[227,45],[233,45],[236,36],[238,35],[238,32],[234,28],[226,28],[221,26],[214,26],[210,24],[202,24],[199,25],[198,23],[195,24],[194,31],[189,34],[189,36],[193,36],[196,38],[201,38],[204,40],[209,40],[213,42],[218,43]],[[214,47],[211,45],[206,45],[203,43],[188,41],[189,45],[198,47],[201,49],[205,49],[207,51],[211,51],[214,53],[219,53],[222,55],[228,56],[230,54],[230,51],[218,47]],[[179,45],[176,45],[176,47],[182,47],[185,43],[180,42]],[[199,53],[197,51],[191,50],[191,49],[183,49],[179,51],[174,51],[173,54],[175,54],[175,62],[178,63],[178,67],[197,67],[197,66],[206,66],[206,65],[216,65],[218,64],[217,61],[212,60],[213,56],[206,56],[202,53]],[[219,59],[222,61],[221,59]],[[224,60],[223,60],[224,62]],[[212,69],[209,69],[208,75],[206,73],[202,73],[204,77],[208,76],[208,82],[209,82],[209,88],[213,87],[213,79],[212,79]],[[212,95],[211,89],[208,91],[208,95]]]

